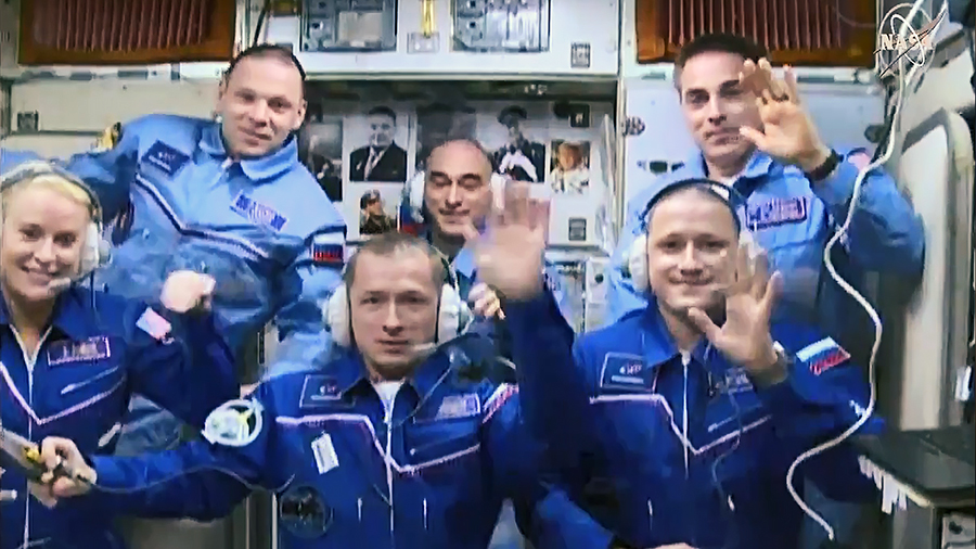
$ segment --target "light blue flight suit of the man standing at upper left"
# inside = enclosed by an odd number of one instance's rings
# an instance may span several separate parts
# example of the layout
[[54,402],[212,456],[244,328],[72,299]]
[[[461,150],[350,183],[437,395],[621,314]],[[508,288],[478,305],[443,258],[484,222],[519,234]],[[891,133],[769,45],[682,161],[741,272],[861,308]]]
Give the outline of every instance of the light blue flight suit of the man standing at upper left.
[[[235,353],[272,318],[282,337],[317,339],[318,304],[341,281],[345,222],[297,151],[293,137],[235,159],[218,123],[149,115],[125,124],[114,148],[73,156],[68,169],[114,221],[95,286],[146,298],[175,270],[204,272],[217,280],[214,310]],[[179,424],[137,398],[125,435],[126,454],[171,447]]]

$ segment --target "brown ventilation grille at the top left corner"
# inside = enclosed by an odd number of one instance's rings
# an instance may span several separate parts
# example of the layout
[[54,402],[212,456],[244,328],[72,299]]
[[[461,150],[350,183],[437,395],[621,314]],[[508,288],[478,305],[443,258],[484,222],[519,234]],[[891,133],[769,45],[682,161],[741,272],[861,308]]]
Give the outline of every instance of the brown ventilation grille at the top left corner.
[[28,0],[20,63],[226,61],[234,16],[234,0]]

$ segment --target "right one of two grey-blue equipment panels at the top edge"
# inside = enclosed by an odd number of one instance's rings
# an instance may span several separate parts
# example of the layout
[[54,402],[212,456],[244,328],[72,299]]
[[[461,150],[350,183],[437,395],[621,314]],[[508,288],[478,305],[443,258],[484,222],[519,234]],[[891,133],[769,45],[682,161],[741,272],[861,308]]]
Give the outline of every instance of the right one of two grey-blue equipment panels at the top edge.
[[454,51],[549,51],[549,0],[453,0]]

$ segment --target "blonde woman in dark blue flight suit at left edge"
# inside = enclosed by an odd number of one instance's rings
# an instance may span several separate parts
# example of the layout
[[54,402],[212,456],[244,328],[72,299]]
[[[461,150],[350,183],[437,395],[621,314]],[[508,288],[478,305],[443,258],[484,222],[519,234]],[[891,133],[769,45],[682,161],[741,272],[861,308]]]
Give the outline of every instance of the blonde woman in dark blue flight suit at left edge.
[[[100,263],[100,208],[44,163],[0,180],[0,424],[29,442],[72,436],[112,454],[130,395],[193,425],[236,388],[233,356],[205,305],[214,281],[175,272],[160,305],[77,284]],[[201,309],[203,306],[203,310]],[[3,436],[7,436],[5,434]],[[48,508],[0,454],[0,548],[121,547],[98,501]]]

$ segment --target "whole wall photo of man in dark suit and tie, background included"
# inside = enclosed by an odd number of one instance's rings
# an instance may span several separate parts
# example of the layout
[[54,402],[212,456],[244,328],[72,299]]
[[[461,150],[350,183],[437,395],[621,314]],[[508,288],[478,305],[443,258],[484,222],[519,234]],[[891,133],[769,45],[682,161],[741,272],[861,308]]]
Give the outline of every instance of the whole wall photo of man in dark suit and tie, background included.
[[408,177],[407,143],[411,117],[384,104],[362,115],[346,116],[344,138],[349,152],[349,181],[403,183]]

